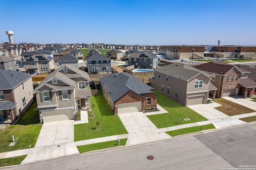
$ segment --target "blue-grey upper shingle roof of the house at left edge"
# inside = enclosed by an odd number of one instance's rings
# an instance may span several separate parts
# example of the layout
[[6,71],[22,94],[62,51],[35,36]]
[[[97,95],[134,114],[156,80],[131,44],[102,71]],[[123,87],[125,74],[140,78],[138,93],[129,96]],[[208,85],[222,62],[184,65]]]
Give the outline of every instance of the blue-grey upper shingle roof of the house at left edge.
[[31,76],[29,73],[0,69],[0,90],[14,89]]

